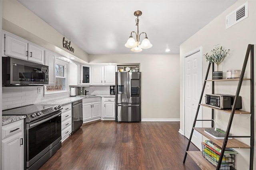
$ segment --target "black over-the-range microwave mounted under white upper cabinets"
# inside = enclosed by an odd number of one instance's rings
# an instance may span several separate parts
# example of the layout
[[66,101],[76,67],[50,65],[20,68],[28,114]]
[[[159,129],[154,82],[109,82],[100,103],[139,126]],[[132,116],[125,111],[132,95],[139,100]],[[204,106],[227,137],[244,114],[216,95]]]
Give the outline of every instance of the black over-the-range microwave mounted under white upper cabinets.
[[2,57],[2,86],[43,86],[49,84],[48,66]]

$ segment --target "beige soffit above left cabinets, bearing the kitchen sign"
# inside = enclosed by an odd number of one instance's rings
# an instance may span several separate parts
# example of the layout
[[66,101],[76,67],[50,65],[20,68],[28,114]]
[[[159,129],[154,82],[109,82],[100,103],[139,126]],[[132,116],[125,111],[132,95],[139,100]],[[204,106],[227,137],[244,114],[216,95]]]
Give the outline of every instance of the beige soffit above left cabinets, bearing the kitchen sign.
[[[65,57],[76,57],[79,62],[88,62],[88,54],[76,44],[71,45],[74,53],[62,47],[64,35],[56,31],[32,11],[16,0],[4,0],[2,29],[36,43]],[[66,37],[68,40],[70,37]]]

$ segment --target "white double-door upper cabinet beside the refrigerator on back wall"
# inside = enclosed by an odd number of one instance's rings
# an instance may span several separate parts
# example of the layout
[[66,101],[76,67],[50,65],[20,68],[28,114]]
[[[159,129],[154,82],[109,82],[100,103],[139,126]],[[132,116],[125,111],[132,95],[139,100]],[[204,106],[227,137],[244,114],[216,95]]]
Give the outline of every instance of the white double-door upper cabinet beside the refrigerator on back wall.
[[92,85],[114,85],[116,66],[92,66]]

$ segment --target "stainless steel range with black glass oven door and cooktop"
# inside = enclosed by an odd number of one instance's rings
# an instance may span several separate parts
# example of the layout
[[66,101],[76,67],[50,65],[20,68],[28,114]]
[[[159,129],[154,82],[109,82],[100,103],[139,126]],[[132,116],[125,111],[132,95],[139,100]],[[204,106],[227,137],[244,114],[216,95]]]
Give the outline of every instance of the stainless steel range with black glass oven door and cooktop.
[[26,115],[26,169],[40,168],[61,147],[60,105],[34,104],[3,110],[2,115]]

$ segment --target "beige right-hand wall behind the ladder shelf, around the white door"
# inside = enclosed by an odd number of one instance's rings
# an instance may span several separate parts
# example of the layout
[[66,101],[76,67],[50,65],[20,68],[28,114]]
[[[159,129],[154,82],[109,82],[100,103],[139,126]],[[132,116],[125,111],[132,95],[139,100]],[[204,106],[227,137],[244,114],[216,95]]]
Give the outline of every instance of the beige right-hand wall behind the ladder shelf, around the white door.
[[[220,64],[219,70],[226,73],[226,70],[230,69],[242,69],[242,64],[244,62],[244,57],[246,54],[246,49],[248,44],[254,44],[254,51],[256,45],[256,2],[248,1],[248,11],[249,16],[243,21],[240,21],[236,25],[226,29],[225,27],[225,17],[230,12],[238,8],[246,1],[238,1],[217,18],[212,20],[208,25],[203,27],[200,31],[186,40],[180,45],[180,86],[183,86],[183,62],[184,54],[192,51],[196,47],[202,45],[203,54],[210,52],[214,45],[220,44],[226,49],[230,49],[230,55]],[[254,53],[255,55],[255,53]],[[250,63],[250,62],[249,62]],[[254,65],[255,65],[254,59]],[[203,77],[205,77],[206,69],[208,63],[203,60]],[[215,66],[216,68],[216,66]],[[250,64],[246,67],[245,76],[248,78],[250,73]],[[211,73],[210,73],[211,74]],[[254,66],[254,74],[256,74],[256,69]],[[225,75],[226,77],[226,75]],[[208,79],[211,79],[209,76]],[[254,84],[256,81],[254,80]],[[218,94],[235,94],[238,82],[215,82],[215,93]],[[255,89],[255,88],[254,88]],[[205,90],[205,93],[211,93],[210,90]],[[184,104],[183,104],[183,91],[180,89],[180,119],[183,119],[184,115]],[[240,91],[240,96],[242,96],[243,110],[250,111],[250,82],[243,82]],[[254,98],[255,98],[254,92]],[[202,100],[204,103],[204,99]],[[255,104],[254,104],[255,108]],[[255,109],[254,109],[255,110]],[[255,111],[254,111],[255,112]],[[216,112],[221,123],[218,123],[218,127],[226,129],[229,114],[223,112]],[[204,119],[210,118],[210,109],[203,108]],[[207,123],[204,123],[206,126]],[[209,124],[208,124],[209,125]],[[184,131],[184,122],[180,122],[180,129]],[[255,130],[254,130],[255,131]],[[232,123],[232,128],[230,131],[233,135],[250,135],[250,115],[235,115]],[[248,139],[239,139],[250,145]],[[249,156],[250,149],[236,149],[239,154],[236,156],[236,169],[245,170],[249,169]],[[255,160],[255,149],[254,149],[254,160]],[[255,162],[255,161],[254,161]],[[256,165],[254,163],[254,168]]]

